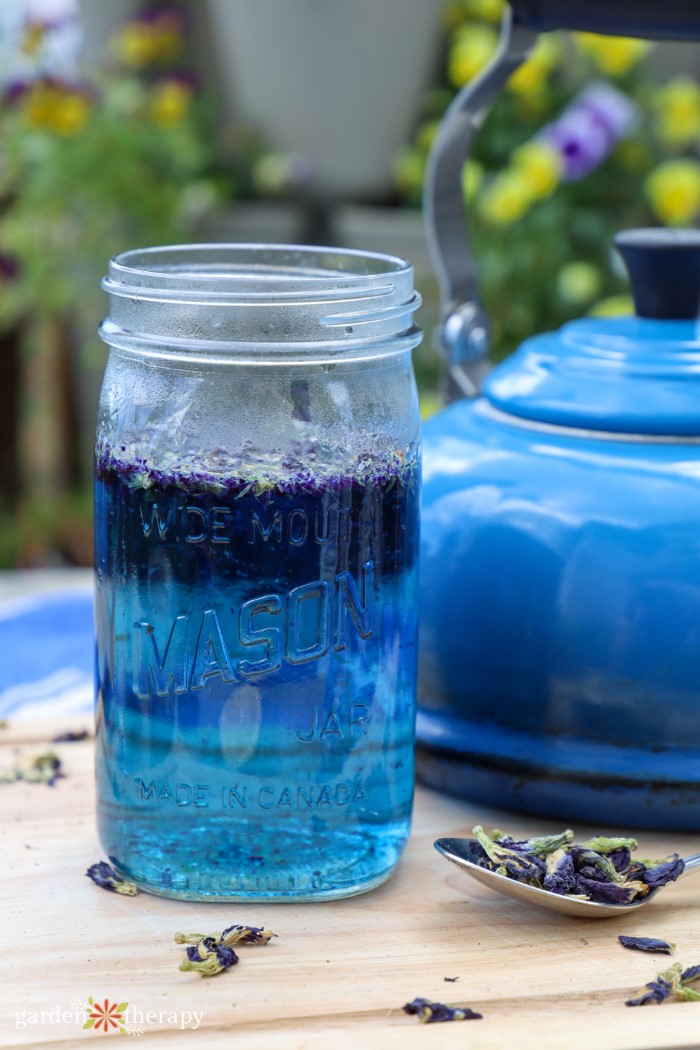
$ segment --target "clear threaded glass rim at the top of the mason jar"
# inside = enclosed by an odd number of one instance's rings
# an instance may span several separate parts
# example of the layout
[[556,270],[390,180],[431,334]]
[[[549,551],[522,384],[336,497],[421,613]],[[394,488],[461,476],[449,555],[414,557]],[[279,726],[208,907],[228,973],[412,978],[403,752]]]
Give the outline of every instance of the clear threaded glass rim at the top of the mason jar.
[[309,245],[133,249],[102,282],[110,346],[241,364],[366,359],[420,341],[413,268],[395,255]]

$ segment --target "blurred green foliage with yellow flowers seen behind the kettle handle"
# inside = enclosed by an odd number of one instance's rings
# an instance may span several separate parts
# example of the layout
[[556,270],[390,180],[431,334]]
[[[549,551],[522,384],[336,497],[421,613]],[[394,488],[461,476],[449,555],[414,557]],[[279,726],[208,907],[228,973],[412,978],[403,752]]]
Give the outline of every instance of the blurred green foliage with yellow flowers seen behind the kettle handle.
[[[397,186],[420,205],[427,154],[446,106],[491,58],[500,0],[453,0],[442,81],[425,100],[412,145],[397,158]],[[627,278],[611,250],[616,231],[700,215],[700,88],[660,85],[650,45],[550,34],[511,78],[476,136],[463,189],[468,233],[493,326],[493,357],[589,311],[624,311]],[[586,176],[571,180],[543,129],[579,92],[603,81],[636,119]],[[614,98],[614,97],[613,97]],[[525,149],[524,149],[525,147]]]

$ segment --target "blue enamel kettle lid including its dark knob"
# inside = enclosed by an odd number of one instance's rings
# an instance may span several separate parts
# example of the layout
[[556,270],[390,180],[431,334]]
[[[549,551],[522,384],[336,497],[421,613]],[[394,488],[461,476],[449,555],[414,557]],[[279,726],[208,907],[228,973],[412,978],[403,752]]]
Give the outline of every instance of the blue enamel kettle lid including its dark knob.
[[484,396],[537,422],[700,437],[700,230],[629,230],[615,245],[636,316],[582,318],[528,339]]

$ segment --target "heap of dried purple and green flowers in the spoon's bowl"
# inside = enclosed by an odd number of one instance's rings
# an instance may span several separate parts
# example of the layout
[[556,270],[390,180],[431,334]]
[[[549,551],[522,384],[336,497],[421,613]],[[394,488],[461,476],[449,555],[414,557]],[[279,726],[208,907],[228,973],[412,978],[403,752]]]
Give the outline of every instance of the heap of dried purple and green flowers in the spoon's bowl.
[[[632,860],[637,840],[596,836],[574,843],[570,830],[516,840],[501,831],[473,828],[482,867],[561,896],[601,904],[631,904],[674,882],[683,872],[678,854],[658,861]],[[481,852],[481,853],[480,853]]]

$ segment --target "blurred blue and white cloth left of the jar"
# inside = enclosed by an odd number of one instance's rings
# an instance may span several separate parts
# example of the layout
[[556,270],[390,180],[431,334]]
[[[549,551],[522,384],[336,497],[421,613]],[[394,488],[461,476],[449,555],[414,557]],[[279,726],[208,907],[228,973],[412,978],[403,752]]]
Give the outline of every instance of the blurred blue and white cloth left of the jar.
[[0,718],[91,712],[93,638],[89,590],[0,603]]

